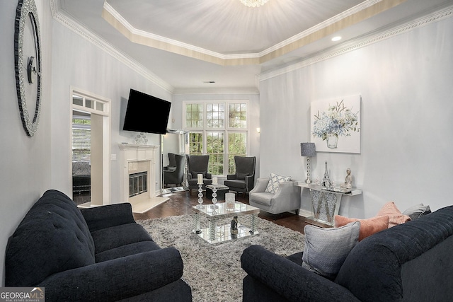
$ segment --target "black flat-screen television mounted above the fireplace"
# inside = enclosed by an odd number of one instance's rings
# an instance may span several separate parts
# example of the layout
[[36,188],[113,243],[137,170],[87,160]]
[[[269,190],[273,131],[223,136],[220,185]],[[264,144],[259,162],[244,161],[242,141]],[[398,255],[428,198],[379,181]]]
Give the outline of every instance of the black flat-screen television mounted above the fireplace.
[[122,129],[166,134],[170,108],[171,103],[166,100],[131,89]]

